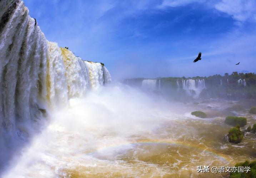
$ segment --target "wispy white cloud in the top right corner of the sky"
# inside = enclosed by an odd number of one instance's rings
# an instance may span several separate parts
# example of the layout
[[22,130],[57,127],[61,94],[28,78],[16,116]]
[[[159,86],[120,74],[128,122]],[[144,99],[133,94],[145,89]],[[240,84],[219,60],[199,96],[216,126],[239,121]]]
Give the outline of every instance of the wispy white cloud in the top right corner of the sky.
[[221,12],[231,15],[238,21],[246,21],[249,19],[255,20],[255,0],[222,0],[215,5],[215,8]]

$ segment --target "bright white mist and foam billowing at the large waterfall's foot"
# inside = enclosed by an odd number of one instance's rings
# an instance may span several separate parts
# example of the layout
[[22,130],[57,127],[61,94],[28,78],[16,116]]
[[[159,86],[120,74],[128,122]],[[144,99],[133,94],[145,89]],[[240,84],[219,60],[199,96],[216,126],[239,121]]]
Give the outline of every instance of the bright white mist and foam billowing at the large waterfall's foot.
[[175,119],[174,108],[166,103],[120,83],[71,99],[68,108],[49,113],[46,128],[4,177],[64,176],[65,169],[78,165],[100,166],[100,173],[109,170],[110,163],[124,171],[119,157],[134,149],[144,135],[156,139],[162,122]]

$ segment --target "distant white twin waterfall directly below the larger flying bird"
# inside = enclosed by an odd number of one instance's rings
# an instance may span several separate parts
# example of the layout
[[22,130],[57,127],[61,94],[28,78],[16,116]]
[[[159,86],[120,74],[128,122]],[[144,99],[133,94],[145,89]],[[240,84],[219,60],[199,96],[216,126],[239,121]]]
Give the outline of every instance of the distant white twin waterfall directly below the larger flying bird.
[[201,91],[205,89],[205,80],[204,79],[182,79],[182,88],[186,90],[186,94],[189,96],[193,95],[193,91],[195,92],[194,98],[198,98]]

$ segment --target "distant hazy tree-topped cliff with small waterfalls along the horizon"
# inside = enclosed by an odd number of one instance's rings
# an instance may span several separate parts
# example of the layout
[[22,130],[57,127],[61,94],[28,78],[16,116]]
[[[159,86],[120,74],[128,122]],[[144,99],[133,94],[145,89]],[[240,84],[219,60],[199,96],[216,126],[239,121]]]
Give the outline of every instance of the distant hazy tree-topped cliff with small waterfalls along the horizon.
[[[124,83],[141,87],[145,78],[125,79]],[[152,80],[152,79],[151,79]],[[210,77],[179,78],[167,77],[155,80],[154,90],[161,91],[175,98],[191,96],[193,98],[255,98],[256,75],[237,73],[214,75]],[[143,87],[142,87],[143,88]]]

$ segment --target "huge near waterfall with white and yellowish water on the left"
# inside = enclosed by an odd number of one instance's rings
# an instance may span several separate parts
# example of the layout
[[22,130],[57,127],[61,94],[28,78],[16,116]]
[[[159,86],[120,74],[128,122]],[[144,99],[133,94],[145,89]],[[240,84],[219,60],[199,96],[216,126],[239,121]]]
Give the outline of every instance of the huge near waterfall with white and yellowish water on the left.
[[4,147],[29,136],[47,110],[111,81],[104,64],[82,61],[46,40],[20,0],[0,1],[0,168]]

